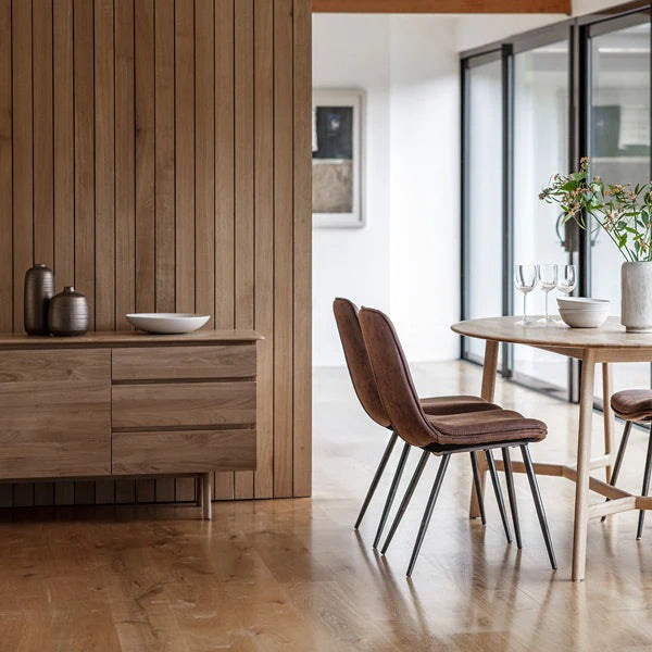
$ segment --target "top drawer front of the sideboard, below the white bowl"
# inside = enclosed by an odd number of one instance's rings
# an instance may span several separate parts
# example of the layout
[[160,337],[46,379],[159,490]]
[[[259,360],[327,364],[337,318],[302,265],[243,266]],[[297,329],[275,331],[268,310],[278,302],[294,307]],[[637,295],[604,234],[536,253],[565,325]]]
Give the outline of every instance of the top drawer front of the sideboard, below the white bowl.
[[113,380],[255,377],[255,344],[114,349]]

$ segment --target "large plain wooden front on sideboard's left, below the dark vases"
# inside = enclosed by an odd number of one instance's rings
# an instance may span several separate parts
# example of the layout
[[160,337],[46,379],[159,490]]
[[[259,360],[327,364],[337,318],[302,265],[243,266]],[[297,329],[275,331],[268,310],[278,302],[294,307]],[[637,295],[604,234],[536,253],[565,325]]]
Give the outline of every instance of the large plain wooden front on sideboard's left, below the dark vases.
[[0,478],[111,473],[111,352],[0,354]]

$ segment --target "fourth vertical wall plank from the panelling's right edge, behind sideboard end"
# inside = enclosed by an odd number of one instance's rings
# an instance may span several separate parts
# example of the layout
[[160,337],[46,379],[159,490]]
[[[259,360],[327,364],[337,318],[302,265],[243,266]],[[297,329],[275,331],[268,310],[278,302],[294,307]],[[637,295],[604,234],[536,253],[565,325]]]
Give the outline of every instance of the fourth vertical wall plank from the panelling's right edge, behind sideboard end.
[[[235,13],[236,328],[253,328],[253,0]],[[235,496],[253,498],[253,472],[237,472]]]

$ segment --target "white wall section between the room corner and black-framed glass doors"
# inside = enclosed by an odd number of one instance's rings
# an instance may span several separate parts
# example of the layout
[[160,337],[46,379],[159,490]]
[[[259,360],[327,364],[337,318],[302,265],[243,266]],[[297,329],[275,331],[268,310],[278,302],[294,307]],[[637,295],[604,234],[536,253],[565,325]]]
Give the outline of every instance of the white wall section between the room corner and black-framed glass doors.
[[460,341],[460,58],[452,17],[391,20],[391,314],[410,360]]

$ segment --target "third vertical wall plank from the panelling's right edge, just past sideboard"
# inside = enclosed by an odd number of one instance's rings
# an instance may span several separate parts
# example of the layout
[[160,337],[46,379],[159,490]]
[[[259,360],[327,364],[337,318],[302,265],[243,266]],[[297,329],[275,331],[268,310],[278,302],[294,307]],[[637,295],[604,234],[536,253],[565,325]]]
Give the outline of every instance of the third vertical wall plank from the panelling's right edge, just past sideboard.
[[274,494],[274,2],[254,0],[255,319],[259,342],[254,494]]

